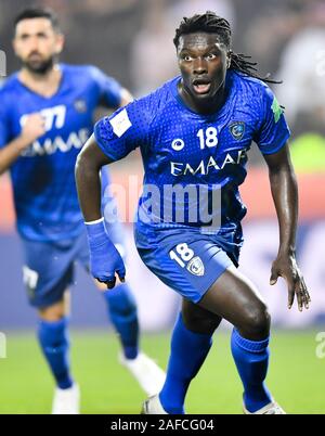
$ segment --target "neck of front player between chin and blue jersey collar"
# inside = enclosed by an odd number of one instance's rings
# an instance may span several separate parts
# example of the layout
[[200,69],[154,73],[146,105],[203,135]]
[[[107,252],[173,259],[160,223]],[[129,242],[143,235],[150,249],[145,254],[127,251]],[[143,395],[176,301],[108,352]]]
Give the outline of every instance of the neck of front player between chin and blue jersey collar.
[[202,115],[216,114],[223,106],[226,99],[225,84],[222,85],[218,93],[209,101],[200,102],[194,99],[181,82],[179,84],[179,93],[184,104],[191,111]]

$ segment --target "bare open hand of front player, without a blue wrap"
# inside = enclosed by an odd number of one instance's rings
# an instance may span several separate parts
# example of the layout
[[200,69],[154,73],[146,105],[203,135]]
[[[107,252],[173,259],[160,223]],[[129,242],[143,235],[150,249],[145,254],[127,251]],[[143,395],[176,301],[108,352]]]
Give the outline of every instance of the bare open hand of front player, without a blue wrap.
[[299,310],[302,312],[303,307],[309,309],[311,297],[304,283],[304,279],[298,268],[296,256],[277,256],[272,265],[270,284],[274,285],[280,277],[285,279],[288,285],[288,308],[291,309],[295,297],[297,297]]

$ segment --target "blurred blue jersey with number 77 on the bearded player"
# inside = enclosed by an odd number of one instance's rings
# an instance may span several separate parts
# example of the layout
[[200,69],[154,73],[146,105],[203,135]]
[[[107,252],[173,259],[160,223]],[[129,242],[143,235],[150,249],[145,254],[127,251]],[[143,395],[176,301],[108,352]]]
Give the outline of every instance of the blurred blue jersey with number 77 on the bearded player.
[[83,230],[75,183],[75,164],[93,130],[99,105],[117,108],[121,88],[93,66],[61,65],[57,92],[44,98],[26,88],[17,74],[0,90],[0,148],[18,137],[26,115],[40,113],[47,132],[11,168],[20,234],[51,242]]

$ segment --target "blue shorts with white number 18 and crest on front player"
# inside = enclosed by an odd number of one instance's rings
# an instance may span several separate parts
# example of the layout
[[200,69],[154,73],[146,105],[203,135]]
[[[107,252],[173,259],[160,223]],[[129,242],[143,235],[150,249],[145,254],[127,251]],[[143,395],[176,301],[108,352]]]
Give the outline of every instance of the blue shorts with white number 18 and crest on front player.
[[238,258],[220,246],[218,238],[194,229],[135,228],[141,259],[167,286],[195,304]]

